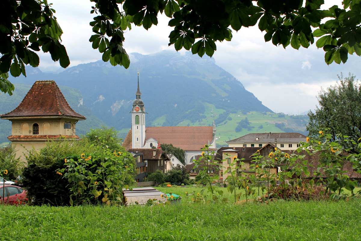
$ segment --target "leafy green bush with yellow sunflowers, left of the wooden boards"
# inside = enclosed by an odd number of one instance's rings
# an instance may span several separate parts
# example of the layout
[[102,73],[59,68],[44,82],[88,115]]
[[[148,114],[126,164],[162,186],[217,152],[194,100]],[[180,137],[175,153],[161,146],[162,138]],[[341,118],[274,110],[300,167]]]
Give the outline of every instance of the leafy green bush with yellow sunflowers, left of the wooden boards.
[[[104,144],[104,143],[103,143]],[[92,155],[64,159],[65,167],[57,173],[69,182],[70,205],[123,202],[122,189],[134,182],[135,161],[129,152],[110,151],[101,146]]]

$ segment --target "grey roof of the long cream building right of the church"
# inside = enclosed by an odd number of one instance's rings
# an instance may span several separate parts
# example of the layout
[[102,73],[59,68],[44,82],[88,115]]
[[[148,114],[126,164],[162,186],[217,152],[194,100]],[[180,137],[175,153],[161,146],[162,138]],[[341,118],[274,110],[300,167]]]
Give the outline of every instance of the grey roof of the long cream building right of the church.
[[[257,140],[258,138],[258,140]],[[243,135],[242,137],[238,137],[231,141],[226,141],[226,143],[274,143],[275,139],[277,142],[305,142],[306,136],[297,132],[287,132],[287,133],[249,133],[247,135]]]

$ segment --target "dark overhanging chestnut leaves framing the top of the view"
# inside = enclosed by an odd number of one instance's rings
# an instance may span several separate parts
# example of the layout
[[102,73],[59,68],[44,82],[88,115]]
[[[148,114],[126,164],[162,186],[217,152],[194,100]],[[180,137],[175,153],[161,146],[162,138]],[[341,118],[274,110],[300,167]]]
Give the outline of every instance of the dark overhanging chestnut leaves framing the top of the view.
[[[258,23],[265,31],[265,41],[284,48],[308,48],[317,40],[323,48],[325,62],[345,63],[348,54],[361,55],[361,3],[343,1],[328,10],[320,10],[323,0],[90,0],[91,13],[97,14],[90,22],[94,34],[89,41],[103,53],[102,59],[112,65],[128,68],[129,56],[123,48],[124,32],[131,23],[149,29],[157,25],[158,13],[171,18],[174,27],[169,34],[169,45],[175,50],[191,50],[193,54],[212,56],[216,42],[232,39],[232,30]],[[14,86],[7,80],[25,75],[25,65],[39,65],[34,51],[50,52],[62,67],[69,66],[69,57],[61,44],[62,30],[53,16],[47,0],[3,0],[0,16],[0,90],[12,94]],[[323,20],[327,21],[323,23]],[[322,22],[322,23],[321,23]],[[315,28],[312,31],[312,27]]]

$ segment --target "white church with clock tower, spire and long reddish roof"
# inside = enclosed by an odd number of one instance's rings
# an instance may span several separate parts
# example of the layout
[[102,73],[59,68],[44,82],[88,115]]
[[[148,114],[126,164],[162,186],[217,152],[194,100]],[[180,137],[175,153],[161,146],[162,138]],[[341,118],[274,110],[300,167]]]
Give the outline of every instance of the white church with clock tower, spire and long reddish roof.
[[204,145],[216,149],[216,125],[213,126],[156,126],[146,127],[145,107],[140,98],[142,93],[138,88],[131,109],[132,126],[123,146],[129,149],[150,149],[160,144],[172,144],[186,152],[186,164],[192,164],[197,155],[201,155]]

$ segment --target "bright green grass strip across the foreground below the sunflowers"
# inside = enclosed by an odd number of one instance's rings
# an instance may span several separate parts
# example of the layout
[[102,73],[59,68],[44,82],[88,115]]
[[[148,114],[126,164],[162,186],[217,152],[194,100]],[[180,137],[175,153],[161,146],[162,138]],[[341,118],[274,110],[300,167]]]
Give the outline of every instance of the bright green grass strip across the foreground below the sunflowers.
[[1,240],[360,240],[361,201],[1,206]]

